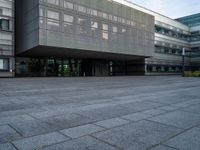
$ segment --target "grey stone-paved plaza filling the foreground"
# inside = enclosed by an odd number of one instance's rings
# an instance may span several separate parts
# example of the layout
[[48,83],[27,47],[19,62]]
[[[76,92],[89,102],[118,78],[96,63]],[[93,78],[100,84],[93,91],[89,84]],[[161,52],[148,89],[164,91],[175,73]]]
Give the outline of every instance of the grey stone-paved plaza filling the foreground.
[[200,79],[0,79],[0,150],[200,150]]

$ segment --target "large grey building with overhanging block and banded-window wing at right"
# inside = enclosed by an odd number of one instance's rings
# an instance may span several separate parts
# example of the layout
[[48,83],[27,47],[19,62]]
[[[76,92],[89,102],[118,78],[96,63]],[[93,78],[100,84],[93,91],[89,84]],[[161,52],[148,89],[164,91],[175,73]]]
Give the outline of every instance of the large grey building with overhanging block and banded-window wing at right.
[[126,0],[16,0],[15,8],[16,76],[181,74],[183,48],[186,69],[200,69],[199,15],[174,20]]

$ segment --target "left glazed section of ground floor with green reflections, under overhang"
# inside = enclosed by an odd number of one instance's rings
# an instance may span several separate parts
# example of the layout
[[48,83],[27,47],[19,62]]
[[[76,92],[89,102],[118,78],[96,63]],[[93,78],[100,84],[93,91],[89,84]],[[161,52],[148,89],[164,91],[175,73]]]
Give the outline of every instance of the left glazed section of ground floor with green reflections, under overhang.
[[31,77],[78,77],[82,61],[64,58],[17,58],[16,75]]

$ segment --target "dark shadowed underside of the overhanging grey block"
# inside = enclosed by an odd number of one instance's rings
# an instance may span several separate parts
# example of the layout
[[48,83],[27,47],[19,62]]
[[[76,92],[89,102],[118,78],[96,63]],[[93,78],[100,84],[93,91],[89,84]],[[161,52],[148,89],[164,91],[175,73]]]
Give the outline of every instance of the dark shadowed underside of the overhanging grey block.
[[76,59],[104,59],[131,61],[148,58],[149,56],[136,56],[120,53],[97,52],[81,49],[67,49],[59,47],[37,46],[24,52],[17,53],[18,57],[57,57]]

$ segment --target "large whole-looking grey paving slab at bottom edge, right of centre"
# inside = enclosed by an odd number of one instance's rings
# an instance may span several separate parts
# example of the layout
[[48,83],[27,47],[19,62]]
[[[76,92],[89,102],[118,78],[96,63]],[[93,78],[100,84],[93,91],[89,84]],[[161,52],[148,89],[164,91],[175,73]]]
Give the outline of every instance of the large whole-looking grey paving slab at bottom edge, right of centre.
[[96,133],[93,136],[121,149],[143,150],[179,132],[181,130],[174,127],[151,121],[139,121]]

